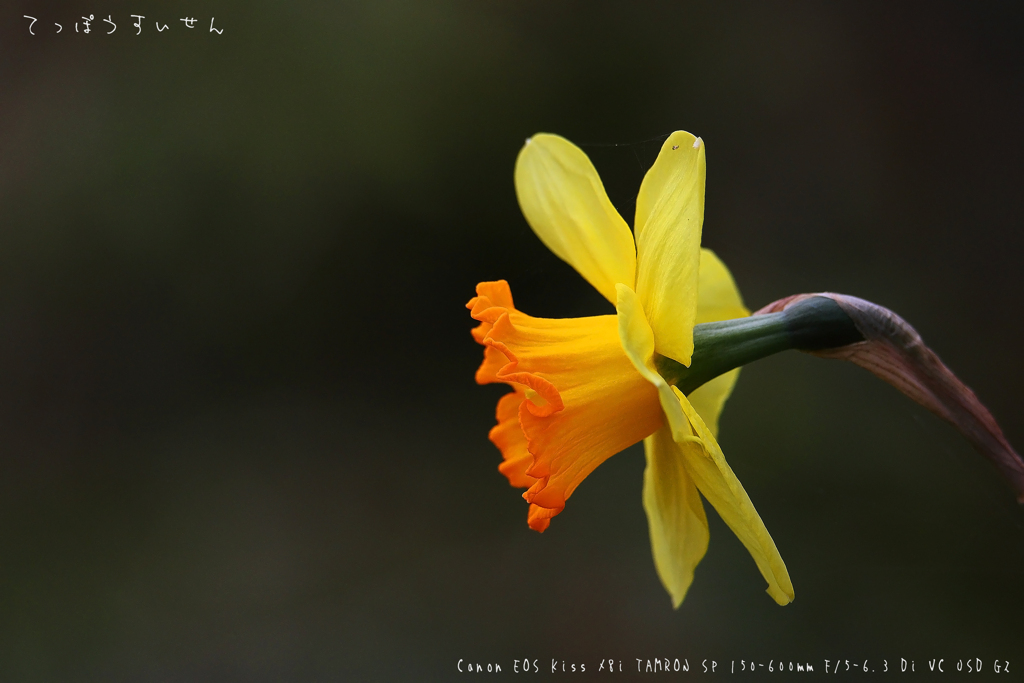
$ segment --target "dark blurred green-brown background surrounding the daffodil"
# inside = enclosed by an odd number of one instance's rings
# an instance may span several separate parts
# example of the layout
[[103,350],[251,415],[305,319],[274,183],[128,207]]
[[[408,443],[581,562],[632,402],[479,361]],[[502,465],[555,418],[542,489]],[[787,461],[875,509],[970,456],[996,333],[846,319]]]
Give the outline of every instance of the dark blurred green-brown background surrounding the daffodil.
[[702,136],[705,244],[752,308],[893,308],[1024,446],[1021,6],[710,5],[8,3],[0,678],[1024,667],[1024,510],[853,366],[763,360],[723,416],[786,607],[709,513],[672,609],[639,447],[543,536],[497,471],[476,283],[610,312],[519,213],[538,131],[580,143],[630,222],[660,136]]

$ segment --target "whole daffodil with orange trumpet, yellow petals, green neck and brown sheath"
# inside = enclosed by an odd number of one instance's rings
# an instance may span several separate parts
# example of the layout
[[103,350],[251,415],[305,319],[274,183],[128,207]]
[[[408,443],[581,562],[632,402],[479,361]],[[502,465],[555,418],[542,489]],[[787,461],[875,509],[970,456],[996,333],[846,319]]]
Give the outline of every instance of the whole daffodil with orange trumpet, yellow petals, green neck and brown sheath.
[[768,594],[792,601],[785,564],[716,441],[738,369],[786,349],[848,360],[893,385],[959,430],[1024,503],[1024,459],[899,315],[827,292],[749,313],[729,270],[700,249],[700,138],[666,140],[640,186],[633,234],[590,160],[561,137],[526,141],[515,184],[538,237],[615,306],[614,315],[531,317],[504,281],[479,284],[467,304],[484,346],[476,380],[513,388],[498,402],[490,440],[504,457],[499,470],[527,489],[532,528],[546,529],[595,467],[643,439],[643,505],[673,604],[708,549],[701,494],[754,557]]

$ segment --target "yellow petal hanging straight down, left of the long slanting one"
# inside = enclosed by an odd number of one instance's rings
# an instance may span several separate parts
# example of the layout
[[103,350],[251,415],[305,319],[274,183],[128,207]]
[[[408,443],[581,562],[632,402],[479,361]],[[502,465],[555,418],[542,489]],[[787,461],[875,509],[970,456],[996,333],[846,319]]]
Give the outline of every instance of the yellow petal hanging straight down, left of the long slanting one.
[[672,605],[679,607],[693,582],[693,569],[708,551],[708,517],[672,430],[662,427],[643,444],[643,509],[654,567]]

